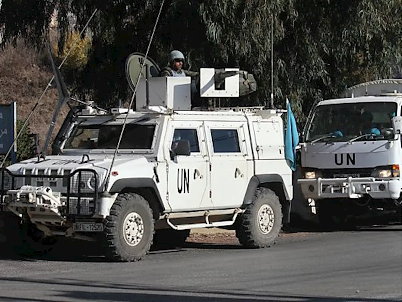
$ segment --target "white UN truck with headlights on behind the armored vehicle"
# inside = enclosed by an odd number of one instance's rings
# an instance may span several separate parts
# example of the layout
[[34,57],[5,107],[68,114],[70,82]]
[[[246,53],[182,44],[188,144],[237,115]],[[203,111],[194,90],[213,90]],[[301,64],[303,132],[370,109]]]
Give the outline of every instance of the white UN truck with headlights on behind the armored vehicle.
[[320,101],[302,134],[297,180],[320,223],[398,213],[402,204],[402,80],[362,83]]

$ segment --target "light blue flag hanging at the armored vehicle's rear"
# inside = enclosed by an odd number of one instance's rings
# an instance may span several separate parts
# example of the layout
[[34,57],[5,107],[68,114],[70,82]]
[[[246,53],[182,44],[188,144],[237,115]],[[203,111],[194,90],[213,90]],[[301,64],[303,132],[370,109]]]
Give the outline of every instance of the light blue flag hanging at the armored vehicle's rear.
[[299,134],[297,133],[296,119],[293,115],[290,102],[286,99],[287,105],[287,127],[285,136],[285,159],[290,168],[296,170],[296,146],[299,144]]

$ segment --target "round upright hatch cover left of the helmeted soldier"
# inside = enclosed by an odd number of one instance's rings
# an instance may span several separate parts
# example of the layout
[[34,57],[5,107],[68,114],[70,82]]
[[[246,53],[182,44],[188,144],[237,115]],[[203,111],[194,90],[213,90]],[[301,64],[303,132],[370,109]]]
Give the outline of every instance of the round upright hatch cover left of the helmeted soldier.
[[[141,66],[144,61],[144,68],[141,72]],[[141,52],[133,52],[128,56],[126,60],[125,72],[127,82],[131,90],[134,92],[135,85],[137,84],[139,76],[147,80],[152,77],[158,77],[160,68],[158,64],[156,64],[156,62],[152,60],[152,58],[145,58],[145,54]]]

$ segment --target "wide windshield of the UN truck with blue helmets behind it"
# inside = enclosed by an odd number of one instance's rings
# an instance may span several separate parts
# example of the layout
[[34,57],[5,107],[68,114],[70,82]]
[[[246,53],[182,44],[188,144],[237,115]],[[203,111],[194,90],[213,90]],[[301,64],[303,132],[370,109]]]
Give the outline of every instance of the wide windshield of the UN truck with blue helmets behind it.
[[359,136],[359,141],[393,138],[391,118],[396,108],[394,102],[318,106],[307,127],[306,142],[349,141]]

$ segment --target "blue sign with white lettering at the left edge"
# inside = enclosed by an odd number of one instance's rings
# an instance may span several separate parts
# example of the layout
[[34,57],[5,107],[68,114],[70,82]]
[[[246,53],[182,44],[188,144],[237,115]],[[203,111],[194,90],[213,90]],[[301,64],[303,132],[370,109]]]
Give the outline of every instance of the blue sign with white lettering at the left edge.
[[[12,102],[0,105],[0,154],[6,155],[16,137],[17,105]],[[12,148],[12,162],[15,162],[16,142]]]

